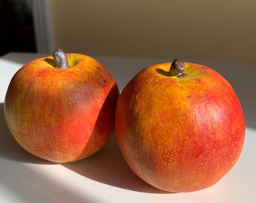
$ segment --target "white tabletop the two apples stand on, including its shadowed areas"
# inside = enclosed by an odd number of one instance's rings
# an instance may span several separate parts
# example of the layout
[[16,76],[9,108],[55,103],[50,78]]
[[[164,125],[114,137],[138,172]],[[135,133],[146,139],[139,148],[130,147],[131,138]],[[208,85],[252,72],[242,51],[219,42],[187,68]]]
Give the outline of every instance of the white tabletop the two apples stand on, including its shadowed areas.
[[[14,141],[5,123],[5,93],[14,73],[41,56],[9,53],[0,58],[0,202],[256,202],[256,68],[245,63],[194,61],[214,68],[235,89],[245,113],[245,145],[233,169],[214,186],[168,193],[133,174],[115,136],[96,155],[69,164],[38,159]],[[169,60],[95,58],[108,68],[120,90],[142,68]]]

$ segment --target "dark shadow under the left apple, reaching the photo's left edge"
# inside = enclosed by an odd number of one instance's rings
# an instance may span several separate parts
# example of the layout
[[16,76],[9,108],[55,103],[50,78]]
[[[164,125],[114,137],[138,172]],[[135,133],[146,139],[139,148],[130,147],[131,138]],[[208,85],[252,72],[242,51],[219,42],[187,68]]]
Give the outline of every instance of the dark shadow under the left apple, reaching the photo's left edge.
[[0,103],[0,157],[17,162],[29,162],[38,164],[53,164],[39,159],[23,150],[15,141],[5,121],[4,104]]

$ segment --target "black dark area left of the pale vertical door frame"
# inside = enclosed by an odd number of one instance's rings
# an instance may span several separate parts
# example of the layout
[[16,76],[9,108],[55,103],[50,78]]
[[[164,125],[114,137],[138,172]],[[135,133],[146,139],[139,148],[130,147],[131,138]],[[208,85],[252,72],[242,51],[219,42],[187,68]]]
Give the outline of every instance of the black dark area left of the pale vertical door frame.
[[32,0],[0,0],[0,56],[35,52]]

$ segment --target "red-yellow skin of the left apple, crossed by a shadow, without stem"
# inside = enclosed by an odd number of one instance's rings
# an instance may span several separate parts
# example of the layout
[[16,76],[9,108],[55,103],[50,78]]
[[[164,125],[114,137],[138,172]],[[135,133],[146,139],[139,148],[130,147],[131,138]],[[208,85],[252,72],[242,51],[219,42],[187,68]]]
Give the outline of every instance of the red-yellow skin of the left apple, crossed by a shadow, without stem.
[[5,119],[17,142],[51,162],[74,162],[100,150],[114,133],[117,83],[96,59],[67,54],[69,68],[52,56],[20,68],[8,86]]

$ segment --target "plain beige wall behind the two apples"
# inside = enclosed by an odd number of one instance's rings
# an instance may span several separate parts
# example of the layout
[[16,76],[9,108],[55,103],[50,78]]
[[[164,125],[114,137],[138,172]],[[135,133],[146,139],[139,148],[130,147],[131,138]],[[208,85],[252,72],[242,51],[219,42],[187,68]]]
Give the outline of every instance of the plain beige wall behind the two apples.
[[52,0],[54,47],[256,67],[255,9],[254,0]]

